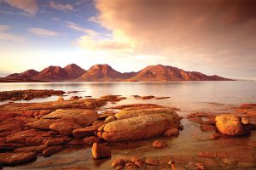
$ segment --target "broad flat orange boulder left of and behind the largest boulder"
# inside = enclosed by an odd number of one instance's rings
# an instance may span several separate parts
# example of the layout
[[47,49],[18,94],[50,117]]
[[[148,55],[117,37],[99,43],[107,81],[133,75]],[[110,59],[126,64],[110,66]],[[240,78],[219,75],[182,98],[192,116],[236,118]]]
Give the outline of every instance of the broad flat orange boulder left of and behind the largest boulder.
[[84,110],[84,109],[71,109],[62,110],[58,109],[42,117],[43,119],[73,119],[73,123],[80,126],[88,126],[92,122],[95,122],[98,118],[96,111]]

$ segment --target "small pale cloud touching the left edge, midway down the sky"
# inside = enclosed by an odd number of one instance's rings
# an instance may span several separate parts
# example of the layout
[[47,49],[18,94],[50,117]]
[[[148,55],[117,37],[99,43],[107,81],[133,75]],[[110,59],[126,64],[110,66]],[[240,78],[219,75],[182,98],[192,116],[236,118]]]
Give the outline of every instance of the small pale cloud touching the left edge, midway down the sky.
[[3,41],[13,41],[13,42],[23,42],[26,37],[21,37],[15,34],[8,33],[10,26],[0,25],[0,40]]

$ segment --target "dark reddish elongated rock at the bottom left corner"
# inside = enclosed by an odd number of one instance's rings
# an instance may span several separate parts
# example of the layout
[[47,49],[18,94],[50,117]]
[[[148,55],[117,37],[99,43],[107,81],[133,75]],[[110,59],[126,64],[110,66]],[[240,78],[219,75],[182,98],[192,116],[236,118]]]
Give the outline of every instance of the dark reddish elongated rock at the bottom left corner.
[[20,152],[20,153],[1,153],[0,163],[3,165],[16,165],[20,163],[25,163],[32,161],[37,158],[34,152]]

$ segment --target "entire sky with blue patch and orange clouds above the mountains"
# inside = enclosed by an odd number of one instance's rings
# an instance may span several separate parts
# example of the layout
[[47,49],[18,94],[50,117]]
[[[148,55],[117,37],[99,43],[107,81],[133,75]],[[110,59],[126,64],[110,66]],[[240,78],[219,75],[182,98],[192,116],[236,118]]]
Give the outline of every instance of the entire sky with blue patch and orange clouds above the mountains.
[[256,80],[254,0],[0,0],[0,77],[172,65]]

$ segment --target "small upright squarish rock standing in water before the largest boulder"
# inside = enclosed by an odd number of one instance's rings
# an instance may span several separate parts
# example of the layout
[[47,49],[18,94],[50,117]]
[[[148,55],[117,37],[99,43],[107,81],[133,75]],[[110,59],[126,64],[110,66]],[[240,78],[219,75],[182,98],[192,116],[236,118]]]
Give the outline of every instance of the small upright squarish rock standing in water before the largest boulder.
[[102,144],[94,143],[92,145],[92,157],[94,159],[100,159],[104,157],[110,157],[111,156],[111,149],[107,146],[104,146]]

